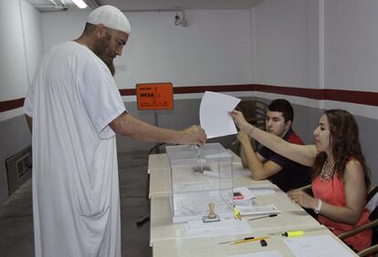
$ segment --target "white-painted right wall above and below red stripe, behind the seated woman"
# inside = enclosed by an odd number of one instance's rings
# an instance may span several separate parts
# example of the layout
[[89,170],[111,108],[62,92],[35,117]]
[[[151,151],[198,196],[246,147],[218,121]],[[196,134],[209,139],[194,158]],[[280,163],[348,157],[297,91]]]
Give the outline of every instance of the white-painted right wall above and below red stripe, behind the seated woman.
[[[252,82],[376,92],[377,12],[378,2],[372,0],[263,1],[251,9],[252,73],[256,74]],[[378,119],[378,107],[306,98],[294,101],[313,108],[345,108]]]

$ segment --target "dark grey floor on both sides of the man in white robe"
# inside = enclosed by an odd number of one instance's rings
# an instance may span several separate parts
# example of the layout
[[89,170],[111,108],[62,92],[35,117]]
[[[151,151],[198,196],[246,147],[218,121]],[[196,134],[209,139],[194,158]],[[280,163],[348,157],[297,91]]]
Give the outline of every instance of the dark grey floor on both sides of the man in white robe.
[[[146,200],[147,151],[120,152],[122,256],[150,257],[150,223],[137,227],[150,213]],[[0,256],[34,256],[31,180],[0,205]]]

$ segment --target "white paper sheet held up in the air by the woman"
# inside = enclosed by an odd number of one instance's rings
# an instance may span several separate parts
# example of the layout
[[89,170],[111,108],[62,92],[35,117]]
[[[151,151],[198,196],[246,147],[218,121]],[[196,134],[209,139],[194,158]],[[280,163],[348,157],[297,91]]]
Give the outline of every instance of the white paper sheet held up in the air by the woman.
[[228,112],[236,108],[239,98],[206,91],[200,105],[201,127],[205,129],[207,139],[233,135],[237,133],[234,120]]

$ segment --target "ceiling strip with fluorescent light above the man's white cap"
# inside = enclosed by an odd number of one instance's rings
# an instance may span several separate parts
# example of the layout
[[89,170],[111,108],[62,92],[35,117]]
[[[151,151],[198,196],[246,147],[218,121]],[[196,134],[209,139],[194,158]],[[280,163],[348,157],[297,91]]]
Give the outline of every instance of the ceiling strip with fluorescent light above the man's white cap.
[[[79,10],[71,0],[26,0],[42,12]],[[263,0],[84,0],[91,9],[114,5],[121,11],[173,9],[249,9]]]

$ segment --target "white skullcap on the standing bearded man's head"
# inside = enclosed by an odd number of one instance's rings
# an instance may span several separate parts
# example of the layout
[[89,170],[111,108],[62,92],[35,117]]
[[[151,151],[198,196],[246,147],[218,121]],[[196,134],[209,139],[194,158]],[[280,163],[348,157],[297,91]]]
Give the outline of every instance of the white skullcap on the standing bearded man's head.
[[103,24],[106,27],[117,29],[127,34],[131,32],[131,26],[126,15],[111,5],[102,5],[94,9],[89,14],[87,23],[93,25]]

